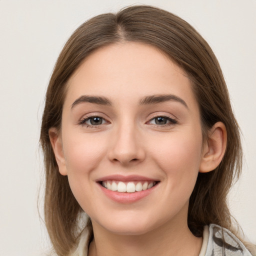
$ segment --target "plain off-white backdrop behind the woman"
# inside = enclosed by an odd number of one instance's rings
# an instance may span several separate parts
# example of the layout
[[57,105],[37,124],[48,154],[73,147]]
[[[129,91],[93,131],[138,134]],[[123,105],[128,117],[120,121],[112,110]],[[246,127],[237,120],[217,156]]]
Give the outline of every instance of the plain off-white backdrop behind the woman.
[[0,0],[0,255],[45,255],[38,138],[46,86],[72,31],[96,14],[143,3],[178,14],[208,41],[243,134],[230,208],[256,243],[256,0]]

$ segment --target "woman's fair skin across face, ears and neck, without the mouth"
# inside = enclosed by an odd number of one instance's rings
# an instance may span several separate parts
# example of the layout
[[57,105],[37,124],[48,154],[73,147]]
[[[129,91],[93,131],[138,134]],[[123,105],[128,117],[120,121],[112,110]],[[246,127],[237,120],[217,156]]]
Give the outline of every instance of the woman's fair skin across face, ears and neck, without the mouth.
[[[159,94],[182,100],[140,103]],[[105,97],[111,105],[77,100],[82,95]],[[93,125],[91,116],[102,123]],[[174,121],[156,123],[157,116]],[[202,139],[190,80],[168,57],[137,42],[96,50],[70,78],[61,130],[51,128],[49,135],[60,173],[91,218],[90,256],[198,255],[202,238],[188,229],[188,200],[198,171],[222,159],[226,133],[218,122]],[[158,183],[142,199],[120,203],[97,182],[112,174]]]

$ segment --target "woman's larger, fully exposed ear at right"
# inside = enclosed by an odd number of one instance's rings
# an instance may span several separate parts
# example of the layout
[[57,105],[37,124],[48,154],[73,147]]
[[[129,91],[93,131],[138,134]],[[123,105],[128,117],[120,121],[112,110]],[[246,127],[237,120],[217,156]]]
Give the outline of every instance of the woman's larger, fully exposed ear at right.
[[226,127],[223,122],[216,122],[208,133],[203,146],[199,172],[214,170],[221,162],[226,149]]

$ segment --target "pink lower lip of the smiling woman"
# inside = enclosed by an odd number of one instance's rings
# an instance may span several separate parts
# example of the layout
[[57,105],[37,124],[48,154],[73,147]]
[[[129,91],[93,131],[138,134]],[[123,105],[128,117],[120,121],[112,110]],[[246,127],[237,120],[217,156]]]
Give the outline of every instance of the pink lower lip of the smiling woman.
[[138,201],[138,200],[146,197],[147,195],[149,195],[155,189],[155,187],[158,185],[158,183],[149,189],[136,191],[136,192],[132,192],[132,193],[112,191],[110,189],[103,187],[99,183],[98,183],[98,185],[101,188],[101,190],[103,191],[103,193],[110,199],[112,199],[116,202],[119,202],[119,203],[131,203],[131,202]]

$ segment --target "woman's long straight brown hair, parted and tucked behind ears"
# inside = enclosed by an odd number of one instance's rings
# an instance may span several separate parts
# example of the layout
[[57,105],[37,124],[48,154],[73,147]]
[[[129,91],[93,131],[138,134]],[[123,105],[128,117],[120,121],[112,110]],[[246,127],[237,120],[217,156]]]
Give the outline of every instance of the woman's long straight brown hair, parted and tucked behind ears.
[[218,61],[207,42],[183,19],[156,7],[131,6],[117,14],[98,15],[80,25],[59,54],[49,81],[40,135],[46,172],[44,217],[53,247],[61,256],[67,255],[75,244],[82,210],[67,176],[58,172],[48,130],[60,128],[66,83],[74,71],[92,51],[118,41],[153,45],[185,71],[199,104],[204,137],[215,122],[225,124],[225,155],[215,170],[198,174],[189,201],[188,227],[196,236],[201,236],[203,226],[210,223],[231,228],[227,193],[239,176],[242,151]]

